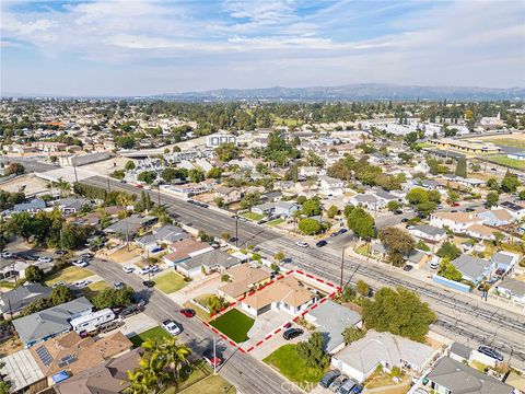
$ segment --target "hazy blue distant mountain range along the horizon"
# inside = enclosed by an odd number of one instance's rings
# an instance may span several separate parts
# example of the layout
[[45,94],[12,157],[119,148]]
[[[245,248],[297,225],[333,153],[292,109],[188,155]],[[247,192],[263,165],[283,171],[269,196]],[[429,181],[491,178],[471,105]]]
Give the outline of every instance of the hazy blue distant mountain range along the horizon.
[[149,99],[173,101],[493,101],[525,97],[525,88],[491,89],[458,86],[417,86],[358,83],[341,86],[219,89],[205,92],[166,93]]

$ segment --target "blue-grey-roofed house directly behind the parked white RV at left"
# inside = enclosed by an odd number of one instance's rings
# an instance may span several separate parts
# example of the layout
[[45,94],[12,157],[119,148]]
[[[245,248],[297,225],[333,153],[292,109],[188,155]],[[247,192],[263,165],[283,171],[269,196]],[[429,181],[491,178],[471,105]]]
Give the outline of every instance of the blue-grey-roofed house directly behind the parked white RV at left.
[[69,321],[91,313],[93,305],[85,297],[15,318],[13,326],[25,348],[71,329]]

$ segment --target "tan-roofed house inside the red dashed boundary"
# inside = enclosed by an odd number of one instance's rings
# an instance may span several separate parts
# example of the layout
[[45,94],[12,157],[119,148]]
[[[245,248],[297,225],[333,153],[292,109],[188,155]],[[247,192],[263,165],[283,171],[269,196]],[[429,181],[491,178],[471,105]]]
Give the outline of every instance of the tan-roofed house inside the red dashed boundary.
[[253,316],[258,316],[269,310],[285,312],[293,316],[306,310],[317,299],[315,292],[306,289],[294,277],[288,276],[254,294],[248,294],[241,302],[241,309]]

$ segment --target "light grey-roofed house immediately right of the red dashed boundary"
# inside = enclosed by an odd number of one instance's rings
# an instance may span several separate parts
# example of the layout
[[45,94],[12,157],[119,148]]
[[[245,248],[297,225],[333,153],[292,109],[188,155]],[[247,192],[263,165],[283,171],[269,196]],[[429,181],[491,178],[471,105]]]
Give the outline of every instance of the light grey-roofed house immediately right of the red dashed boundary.
[[329,355],[337,354],[345,347],[342,333],[346,328],[361,327],[362,325],[362,317],[358,312],[331,300],[319,303],[304,317],[323,335],[325,351]]

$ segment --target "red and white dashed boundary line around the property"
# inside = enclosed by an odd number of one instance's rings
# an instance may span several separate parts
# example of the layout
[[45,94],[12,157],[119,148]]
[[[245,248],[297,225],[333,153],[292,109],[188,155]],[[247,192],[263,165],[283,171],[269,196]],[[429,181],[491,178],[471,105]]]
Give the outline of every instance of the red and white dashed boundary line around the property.
[[[337,293],[339,293],[341,291],[341,288],[339,286],[336,286],[327,280],[324,280],[319,277],[316,277],[312,274],[308,274],[308,273],[305,273],[301,269],[291,269],[289,271],[287,271],[284,275],[279,275],[277,276],[275,279],[270,280],[268,283],[259,287],[258,289],[254,290],[254,291],[250,291],[248,294],[246,296],[243,296],[243,297],[240,297],[236,301],[232,302],[230,305],[228,305],[226,308],[223,308],[221,311],[217,312],[217,313],[213,313],[210,315],[210,318],[213,318],[213,317],[218,317],[222,314],[224,314],[225,312],[234,309],[238,303],[241,303],[243,300],[245,300],[247,297],[250,297],[250,296],[254,296],[257,291],[260,291],[265,288],[267,288],[268,286],[271,286],[273,285],[275,282],[277,282],[278,280],[281,280],[281,279],[284,279],[285,277],[292,275],[292,274],[299,274],[299,275],[303,275],[305,276],[306,278],[311,279],[311,280],[314,280],[314,281],[317,281],[318,283],[323,285],[323,286],[326,286],[326,287],[330,287],[334,289],[334,291],[331,293],[329,293],[328,296],[325,296],[323,297],[322,299],[319,299],[317,302],[315,302],[314,304],[312,304],[308,309],[306,309],[305,311],[301,312],[299,315],[296,315],[295,317],[291,318],[290,321],[288,321],[287,323],[280,325],[279,327],[277,327],[276,329],[273,329],[272,332],[270,332],[264,339],[259,340],[258,343],[256,343],[254,346],[250,346],[249,348],[247,349],[243,349],[242,346],[243,344],[237,344],[235,343],[234,340],[230,339],[228,336],[225,336],[224,334],[222,334],[219,329],[217,329],[215,327],[213,327],[210,323],[208,322],[205,322],[201,320],[202,324],[205,325],[205,327],[207,327],[208,329],[210,329],[213,334],[220,336],[222,339],[225,340],[226,344],[231,345],[232,347],[234,348],[237,348],[242,354],[249,354],[250,351],[253,351],[255,348],[261,346],[262,344],[265,344],[266,341],[270,340],[275,335],[279,334],[280,332],[284,331],[288,326],[292,325],[293,323],[298,322],[301,317],[304,317],[307,313],[312,312],[314,309],[316,309],[318,305],[325,303],[328,299],[332,299]],[[200,318],[200,317],[199,317]]]

